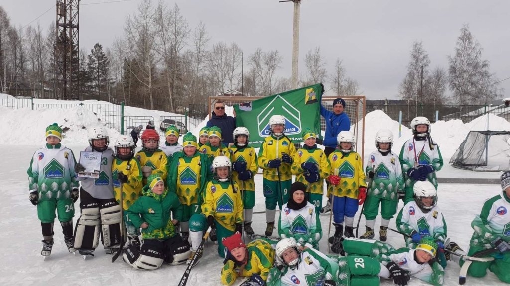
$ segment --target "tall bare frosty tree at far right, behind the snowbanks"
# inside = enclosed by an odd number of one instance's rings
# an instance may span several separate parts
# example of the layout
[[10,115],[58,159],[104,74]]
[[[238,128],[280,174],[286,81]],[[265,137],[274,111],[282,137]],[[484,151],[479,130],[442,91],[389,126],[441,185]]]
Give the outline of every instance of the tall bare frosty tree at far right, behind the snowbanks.
[[502,94],[498,78],[489,72],[489,61],[481,58],[482,51],[469,25],[463,25],[455,54],[448,55],[448,83],[456,103],[483,104]]

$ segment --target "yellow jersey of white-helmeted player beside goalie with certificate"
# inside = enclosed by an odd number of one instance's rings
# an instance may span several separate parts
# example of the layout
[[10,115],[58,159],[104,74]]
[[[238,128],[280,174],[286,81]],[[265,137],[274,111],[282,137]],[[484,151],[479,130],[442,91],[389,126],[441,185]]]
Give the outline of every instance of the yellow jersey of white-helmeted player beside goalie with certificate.
[[127,176],[127,182],[122,185],[122,208],[129,209],[142,193],[142,170],[140,162],[133,158],[129,161],[122,161],[115,158],[112,162],[113,195],[117,203],[120,203],[120,182],[117,174]]

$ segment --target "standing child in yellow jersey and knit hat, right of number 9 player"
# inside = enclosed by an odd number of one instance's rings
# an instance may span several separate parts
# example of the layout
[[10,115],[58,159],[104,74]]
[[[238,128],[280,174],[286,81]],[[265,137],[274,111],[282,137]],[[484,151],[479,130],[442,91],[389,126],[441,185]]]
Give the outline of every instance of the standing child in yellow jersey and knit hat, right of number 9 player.
[[307,201],[315,206],[315,210],[319,214],[322,208],[324,178],[329,175],[331,167],[324,152],[315,144],[317,135],[307,128],[302,136],[304,145],[294,156],[292,175],[296,175],[296,182],[308,185]]

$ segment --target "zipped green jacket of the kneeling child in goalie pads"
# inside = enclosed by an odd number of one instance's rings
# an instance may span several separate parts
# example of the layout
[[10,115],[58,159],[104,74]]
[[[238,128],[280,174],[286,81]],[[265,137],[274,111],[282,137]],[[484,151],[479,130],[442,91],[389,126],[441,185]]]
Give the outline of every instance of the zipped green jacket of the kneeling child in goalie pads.
[[182,220],[183,207],[179,197],[168,190],[161,195],[155,194],[150,191],[148,185],[143,187],[142,193],[143,196],[140,196],[126,211],[127,216],[137,228],[140,228],[144,222],[149,224],[149,227],[142,230],[142,238],[165,240],[176,236],[177,231],[172,223],[170,211],[173,219]]

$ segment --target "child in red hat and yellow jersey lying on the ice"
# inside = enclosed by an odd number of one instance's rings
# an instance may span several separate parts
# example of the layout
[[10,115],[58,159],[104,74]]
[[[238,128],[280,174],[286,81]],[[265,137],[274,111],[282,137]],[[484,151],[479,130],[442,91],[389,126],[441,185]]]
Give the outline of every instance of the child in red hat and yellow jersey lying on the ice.
[[[234,139],[235,140],[235,139]],[[263,286],[274,263],[274,249],[267,241],[257,239],[244,245],[241,234],[223,238],[225,260],[221,269],[221,282],[232,285],[239,276],[250,277],[251,286]],[[246,283],[246,282],[245,282]]]

